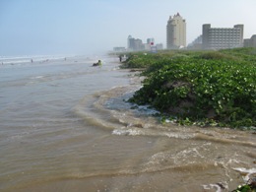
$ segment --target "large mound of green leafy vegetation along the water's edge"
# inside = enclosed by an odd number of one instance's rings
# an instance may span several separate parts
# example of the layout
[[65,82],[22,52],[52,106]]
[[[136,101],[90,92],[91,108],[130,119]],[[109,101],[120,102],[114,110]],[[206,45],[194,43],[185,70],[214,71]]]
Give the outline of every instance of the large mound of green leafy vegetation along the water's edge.
[[256,48],[133,52],[124,68],[143,68],[129,101],[160,111],[162,122],[256,127]]

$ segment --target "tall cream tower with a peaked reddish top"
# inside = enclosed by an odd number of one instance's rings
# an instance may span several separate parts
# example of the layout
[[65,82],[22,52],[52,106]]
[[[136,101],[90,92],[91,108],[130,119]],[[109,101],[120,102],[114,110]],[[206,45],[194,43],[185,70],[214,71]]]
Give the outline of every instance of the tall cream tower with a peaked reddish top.
[[169,17],[166,26],[166,48],[176,49],[186,46],[186,21],[177,13]]

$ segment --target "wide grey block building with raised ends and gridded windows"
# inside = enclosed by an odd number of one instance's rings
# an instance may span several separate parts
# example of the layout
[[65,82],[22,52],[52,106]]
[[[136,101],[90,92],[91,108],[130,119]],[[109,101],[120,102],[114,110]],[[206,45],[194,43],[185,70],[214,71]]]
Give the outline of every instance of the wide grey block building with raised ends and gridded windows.
[[223,49],[243,46],[243,25],[233,28],[211,28],[210,24],[203,25],[203,49]]

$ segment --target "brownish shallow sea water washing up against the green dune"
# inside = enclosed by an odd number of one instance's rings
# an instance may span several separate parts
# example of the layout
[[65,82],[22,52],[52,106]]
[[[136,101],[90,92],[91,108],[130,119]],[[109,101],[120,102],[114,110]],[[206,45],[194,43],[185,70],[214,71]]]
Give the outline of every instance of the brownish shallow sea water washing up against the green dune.
[[256,174],[253,132],[161,124],[126,101],[142,80],[117,57],[0,57],[0,191],[230,191]]

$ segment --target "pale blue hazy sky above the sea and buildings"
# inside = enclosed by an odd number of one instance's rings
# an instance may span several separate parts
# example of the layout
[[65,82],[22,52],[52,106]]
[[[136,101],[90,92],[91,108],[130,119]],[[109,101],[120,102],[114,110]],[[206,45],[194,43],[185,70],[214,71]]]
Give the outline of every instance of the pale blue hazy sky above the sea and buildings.
[[166,45],[166,24],[177,12],[187,43],[213,28],[244,25],[256,34],[256,0],[0,0],[0,56],[92,54],[127,46],[127,37]]

